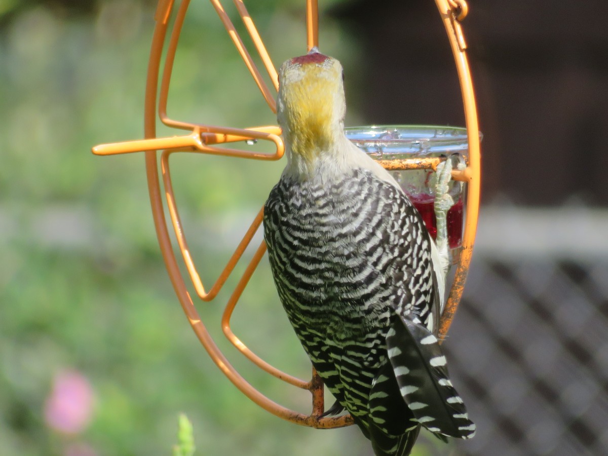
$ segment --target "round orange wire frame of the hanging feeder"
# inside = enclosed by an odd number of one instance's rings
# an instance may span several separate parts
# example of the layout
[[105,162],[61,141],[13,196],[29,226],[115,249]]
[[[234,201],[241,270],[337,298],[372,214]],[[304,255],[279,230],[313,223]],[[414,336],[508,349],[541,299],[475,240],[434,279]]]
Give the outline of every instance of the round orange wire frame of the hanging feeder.
[[[266,51],[266,47],[260,38],[259,33],[252,21],[247,9],[244,5],[243,0],[233,0],[235,7],[243,20],[243,24],[249,33],[249,36],[254,44],[255,50],[257,51],[261,62],[264,65],[264,69],[268,73],[274,91],[268,88],[263,78],[261,77],[260,71],[252,60],[249,52],[243,44],[240,36],[237,33],[232,21],[224,10],[220,0],[210,0],[219,16],[219,19],[226,27],[230,38],[232,39],[235,47],[241,58],[243,58],[247,69],[251,73],[261,92],[264,100],[268,103],[271,111],[276,112],[276,103],[274,93],[278,89],[277,71],[275,66]],[[447,299],[446,309],[440,322],[439,333],[441,336],[445,336],[449,326],[451,325],[452,319],[454,318],[455,311],[460,302],[460,298],[465,286],[466,275],[469,269],[469,263],[471,261],[471,255],[475,240],[475,231],[477,229],[477,215],[479,207],[480,197],[480,140],[479,130],[477,122],[477,110],[475,107],[475,97],[473,92],[471,74],[469,72],[469,65],[466,57],[466,43],[463,36],[463,32],[460,26],[460,21],[465,18],[468,13],[468,6],[464,0],[435,0],[438,10],[443,20],[447,37],[451,43],[452,53],[454,54],[455,63],[458,72],[458,78],[460,81],[460,87],[463,98],[463,105],[465,109],[465,120],[469,142],[469,156],[468,165],[465,170],[454,170],[452,171],[452,178],[458,181],[464,181],[467,185],[467,206],[466,206],[466,218],[465,227],[463,232],[463,247],[461,250],[458,265],[455,271],[454,281],[452,288]],[[313,410],[311,414],[305,415],[303,413],[295,412],[293,410],[286,409],[280,404],[275,403],[271,399],[258,392],[252,385],[250,385],[235,368],[230,365],[223,353],[219,350],[218,346],[213,341],[206,326],[202,323],[201,317],[196,311],[195,305],[193,304],[192,297],[187,291],[187,287],[184,282],[184,278],[179,269],[179,264],[176,259],[173,246],[171,244],[171,238],[168,231],[167,221],[165,219],[164,204],[162,198],[162,190],[159,185],[159,170],[157,161],[157,151],[161,151],[161,175],[164,186],[164,196],[167,202],[168,213],[171,218],[171,224],[173,225],[173,232],[178,242],[179,250],[182,255],[185,267],[190,276],[192,285],[198,295],[199,299],[203,301],[213,300],[218,294],[219,290],[226,283],[227,278],[235,268],[235,265],[240,260],[243,252],[249,246],[252,238],[259,229],[262,219],[263,211],[260,210],[258,215],[255,217],[253,223],[245,233],[243,240],[238,244],[237,249],[230,257],[228,263],[224,267],[218,279],[209,289],[206,289],[201,278],[196,271],[196,267],[192,256],[190,255],[190,249],[185,237],[185,231],[182,227],[181,219],[176,206],[173,186],[171,185],[171,172],[169,166],[169,159],[171,154],[178,151],[187,151],[194,153],[205,153],[205,154],[217,154],[222,156],[241,157],[257,160],[274,161],[278,160],[283,156],[284,145],[280,138],[280,128],[276,125],[269,126],[257,126],[252,128],[228,128],[224,126],[212,126],[202,125],[200,123],[192,122],[181,122],[178,120],[170,119],[167,116],[167,96],[171,80],[171,70],[173,68],[173,61],[175,52],[178,46],[179,35],[181,33],[184,18],[188,9],[190,0],[182,0],[177,8],[175,19],[173,22],[173,29],[171,30],[170,39],[167,46],[167,52],[165,55],[165,64],[162,72],[162,78],[159,89],[159,74],[161,69],[161,57],[162,50],[165,43],[165,37],[167,35],[168,23],[171,12],[174,7],[174,0],[159,0],[154,19],[156,21],[156,27],[154,28],[154,35],[152,38],[150,60],[148,61],[148,77],[146,85],[146,97],[145,97],[145,109],[144,109],[144,136],[145,139],[131,140],[119,143],[108,143],[97,145],[92,148],[94,154],[97,155],[112,155],[112,154],[123,154],[133,152],[144,152],[146,173],[148,179],[148,190],[150,193],[150,201],[152,206],[152,213],[154,218],[154,225],[156,227],[156,234],[159,240],[159,246],[167,266],[168,275],[170,277],[173,288],[178,295],[179,302],[181,303],[182,309],[188,318],[188,322],[192,325],[196,336],[200,340],[201,344],[206,348],[207,352],[219,367],[223,371],[230,381],[237,386],[246,396],[254,401],[258,406],[265,410],[268,410],[274,415],[280,416],[285,420],[292,421],[293,423],[302,424],[303,426],[311,426],[317,428],[333,428],[342,427],[353,424],[353,418],[350,415],[341,416],[325,416],[321,417],[325,403],[323,398],[323,382],[316,374],[313,368],[313,376],[311,380],[304,381],[295,378],[283,371],[278,370],[272,365],[268,364],[263,359],[259,358],[249,348],[246,347],[243,342],[232,332],[230,329],[230,317],[235,309],[235,305],[238,302],[244,288],[249,282],[250,277],[254,273],[255,269],[260,263],[261,258],[266,252],[266,244],[264,241],[260,243],[257,250],[255,251],[254,257],[250,260],[246,270],[241,276],[237,286],[235,287],[232,295],[227,302],[224,314],[221,319],[221,326],[226,337],[232,342],[241,353],[249,358],[254,364],[258,365],[264,371],[267,371],[271,375],[278,379],[282,379],[288,384],[299,387],[300,389],[309,390],[312,394]],[[317,0],[306,0],[306,44],[308,50],[313,46],[317,46],[319,43],[319,18],[318,18],[318,6]],[[159,94],[157,100],[157,93]],[[158,105],[157,105],[158,101]],[[156,137],[156,108],[158,109],[158,116],[162,123],[167,126],[185,130],[188,133],[181,136],[173,137]],[[232,143],[244,140],[265,140],[274,144],[274,153],[254,153],[252,151],[240,150],[236,148],[217,147],[218,144]],[[387,161],[381,162],[385,168],[390,170],[406,170],[406,169],[420,169],[429,168],[436,169],[439,158],[429,159],[409,159],[401,161]]]

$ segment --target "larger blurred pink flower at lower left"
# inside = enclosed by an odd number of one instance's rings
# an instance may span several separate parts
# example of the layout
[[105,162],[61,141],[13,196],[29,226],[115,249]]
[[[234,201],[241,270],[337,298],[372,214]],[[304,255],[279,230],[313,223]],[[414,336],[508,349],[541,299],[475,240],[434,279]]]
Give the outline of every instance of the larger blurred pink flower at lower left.
[[47,426],[63,434],[78,434],[91,422],[92,412],[93,391],[85,376],[77,371],[55,375],[44,404]]

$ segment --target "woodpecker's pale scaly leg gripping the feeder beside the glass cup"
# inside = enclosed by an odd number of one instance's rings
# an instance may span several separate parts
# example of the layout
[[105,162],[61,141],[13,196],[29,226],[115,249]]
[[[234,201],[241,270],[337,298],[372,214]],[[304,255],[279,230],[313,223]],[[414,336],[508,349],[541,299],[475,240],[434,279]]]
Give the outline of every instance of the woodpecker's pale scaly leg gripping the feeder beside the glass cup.
[[[455,162],[452,163],[452,161]],[[446,161],[437,165],[437,173],[431,181],[431,185],[435,190],[435,218],[437,218],[437,250],[441,260],[441,270],[444,275],[447,275],[451,260],[450,249],[447,242],[447,211],[454,206],[454,198],[449,193],[449,182],[452,178],[452,168],[460,169],[465,167],[463,161],[459,160],[459,156],[454,154],[448,157]],[[461,185],[457,182],[455,185]]]

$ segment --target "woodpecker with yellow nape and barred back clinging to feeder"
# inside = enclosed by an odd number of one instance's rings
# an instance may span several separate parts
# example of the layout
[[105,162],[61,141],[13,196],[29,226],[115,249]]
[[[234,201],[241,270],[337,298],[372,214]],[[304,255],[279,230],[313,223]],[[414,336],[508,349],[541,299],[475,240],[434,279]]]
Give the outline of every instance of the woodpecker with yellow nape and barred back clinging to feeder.
[[437,339],[446,255],[390,173],[345,136],[339,61],[313,48],[278,75],[287,163],[264,239],[289,322],[336,398],[324,415],[347,410],[379,456],[410,454],[421,426],[473,437]]

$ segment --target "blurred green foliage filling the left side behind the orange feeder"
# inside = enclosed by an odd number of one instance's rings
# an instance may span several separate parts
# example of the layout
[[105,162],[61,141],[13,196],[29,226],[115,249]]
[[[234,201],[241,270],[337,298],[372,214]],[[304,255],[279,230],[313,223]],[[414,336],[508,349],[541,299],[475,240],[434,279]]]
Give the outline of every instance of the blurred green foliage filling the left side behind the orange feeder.
[[[275,64],[305,51],[303,5],[248,4]],[[176,418],[185,412],[199,455],[371,454],[353,427],[306,429],[264,412],[198,344],[159,254],[143,156],[90,152],[96,143],[142,136],[154,2],[73,8],[69,1],[0,0],[0,453],[170,454]],[[352,67],[354,38],[329,18],[322,26],[324,52]],[[274,123],[209,2],[192,2],[188,12],[168,111],[212,125]],[[210,284],[283,164],[176,154],[171,165],[193,256]],[[199,304],[218,344],[264,393],[309,410],[306,394],[264,375],[224,342],[219,317],[227,297],[224,291]],[[233,328],[278,367],[309,375],[266,264]],[[91,424],[78,435],[61,435],[44,421],[52,379],[63,369],[82,373],[95,393]],[[418,454],[436,447],[422,443]]]

